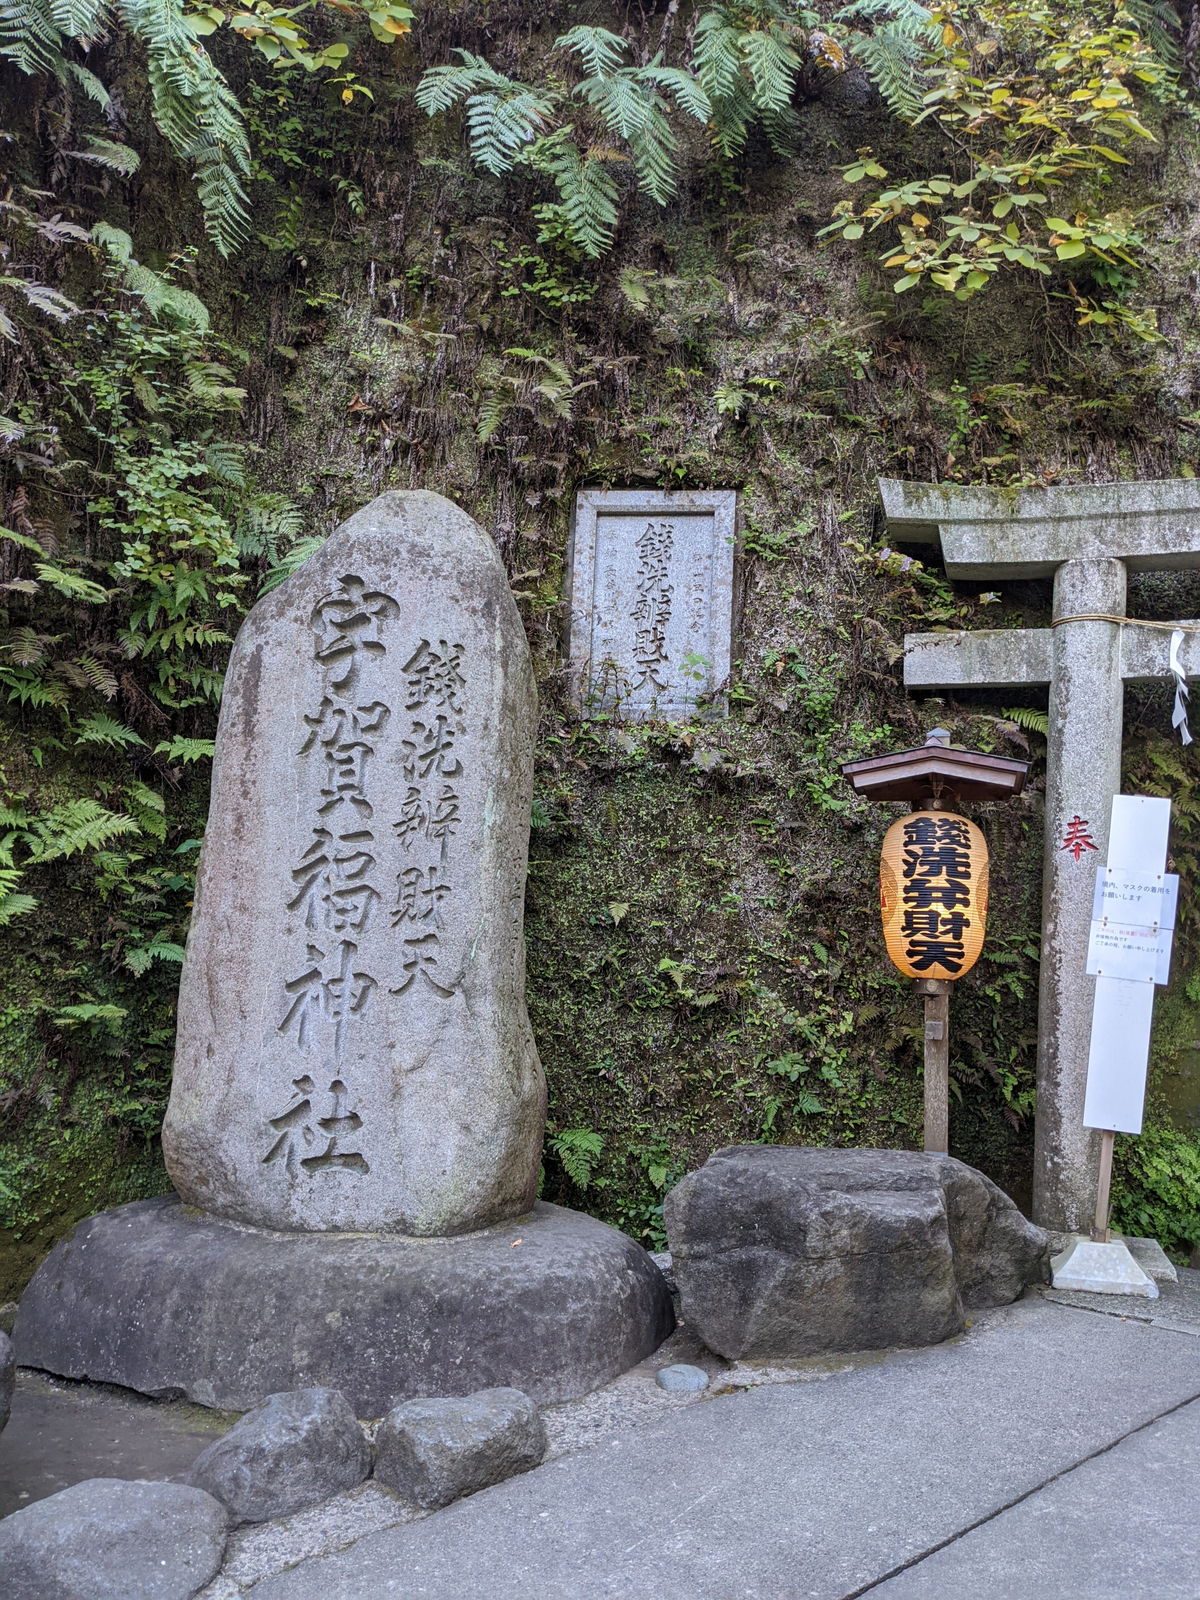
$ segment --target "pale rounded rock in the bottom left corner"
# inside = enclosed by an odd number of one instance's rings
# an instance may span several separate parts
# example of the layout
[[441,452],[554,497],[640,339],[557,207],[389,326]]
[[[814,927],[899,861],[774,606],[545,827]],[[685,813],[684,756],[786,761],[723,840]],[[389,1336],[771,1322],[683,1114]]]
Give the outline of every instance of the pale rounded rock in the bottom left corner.
[[5,1600],[190,1600],[226,1554],[224,1506],[184,1483],[88,1478],[0,1522]]

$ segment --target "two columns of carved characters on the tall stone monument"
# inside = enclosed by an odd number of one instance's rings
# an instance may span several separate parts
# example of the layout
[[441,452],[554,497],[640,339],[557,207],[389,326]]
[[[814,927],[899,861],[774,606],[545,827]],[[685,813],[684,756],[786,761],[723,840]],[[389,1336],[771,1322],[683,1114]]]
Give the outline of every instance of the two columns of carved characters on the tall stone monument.
[[[443,936],[453,894],[450,854],[462,821],[456,742],[466,730],[466,650],[419,638],[402,669],[403,715],[379,699],[360,702],[366,669],[387,654],[384,635],[398,616],[392,595],[346,574],[310,618],[322,696],[302,715],[307,733],[298,754],[317,762],[315,803],[286,901],[286,910],[302,918],[306,949],[299,970],[283,981],[278,1032],[299,1058],[322,1066],[294,1072],[288,1104],[267,1118],[262,1157],[291,1178],[330,1168],[370,1171],[355,1149],[363,1118],[352,1106],[347,1062],[350,1032],[379,994],[379,978],[360,955],[374,920],[387,915],[402,933],[390,994],[403,995],[422,979],[448,1000],[461,984],[461,973],[446,968]],[[398,808],[378,821],[392,789],[386,776],[382,789],[373,778],[389,762],[400,770]],[[381,858],[397,850],[392,874]]]

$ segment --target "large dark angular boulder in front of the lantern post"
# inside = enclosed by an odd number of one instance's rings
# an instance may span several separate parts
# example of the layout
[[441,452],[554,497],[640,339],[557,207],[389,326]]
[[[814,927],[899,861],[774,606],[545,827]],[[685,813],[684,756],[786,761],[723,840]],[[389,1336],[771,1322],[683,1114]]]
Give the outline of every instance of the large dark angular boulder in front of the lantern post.
[[1048,1272],[1046,1234],[947,1155],[733,1146],[664,1214],[683,1318],[730,1360],[936,1344]]

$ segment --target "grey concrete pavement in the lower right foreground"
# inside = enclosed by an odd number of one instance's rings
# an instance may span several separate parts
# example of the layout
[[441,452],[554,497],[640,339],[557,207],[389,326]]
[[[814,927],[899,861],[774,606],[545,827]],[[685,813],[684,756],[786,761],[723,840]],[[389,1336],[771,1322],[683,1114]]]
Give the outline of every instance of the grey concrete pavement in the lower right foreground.
[[1030,1298],[965,1338],[718,1395],[368,1534],[254,1600],[1200,1594],[1200,1339]]

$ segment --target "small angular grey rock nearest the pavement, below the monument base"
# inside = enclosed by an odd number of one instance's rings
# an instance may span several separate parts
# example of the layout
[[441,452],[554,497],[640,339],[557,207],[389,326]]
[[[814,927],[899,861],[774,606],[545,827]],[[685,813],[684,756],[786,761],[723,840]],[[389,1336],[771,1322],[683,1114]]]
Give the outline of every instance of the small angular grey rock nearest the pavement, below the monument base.
[[520,1389],[480,1389],[454,1400],[405,1400],[374,1437],[374,1475],[435,1510],[502,1483],[546,1454],[541,1411]]

